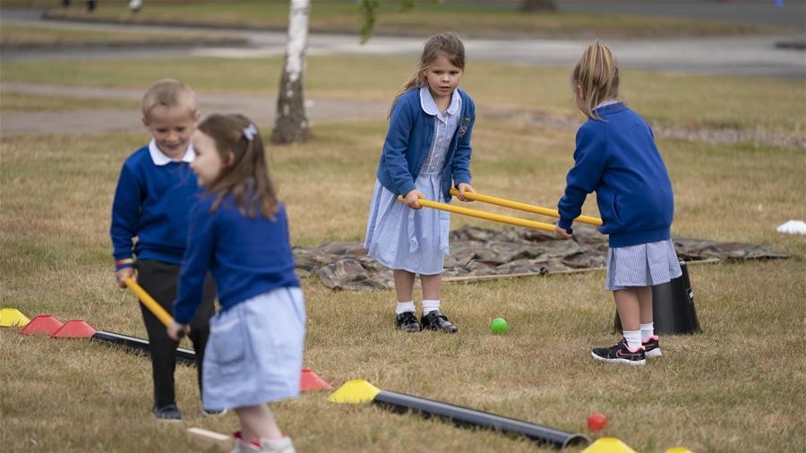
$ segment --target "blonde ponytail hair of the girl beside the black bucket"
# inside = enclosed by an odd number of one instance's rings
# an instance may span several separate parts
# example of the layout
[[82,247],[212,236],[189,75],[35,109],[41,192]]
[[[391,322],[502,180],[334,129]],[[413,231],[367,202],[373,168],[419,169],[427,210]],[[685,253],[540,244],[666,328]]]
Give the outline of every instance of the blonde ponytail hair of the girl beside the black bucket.
[[588,118],[601,120],[595,108],[604,100],[619,96],[619,67],[610,47],[598,39],[585,49],[582,58],[571,74],[574,96],[579,97],[577,85],[582,87],[582,113]]

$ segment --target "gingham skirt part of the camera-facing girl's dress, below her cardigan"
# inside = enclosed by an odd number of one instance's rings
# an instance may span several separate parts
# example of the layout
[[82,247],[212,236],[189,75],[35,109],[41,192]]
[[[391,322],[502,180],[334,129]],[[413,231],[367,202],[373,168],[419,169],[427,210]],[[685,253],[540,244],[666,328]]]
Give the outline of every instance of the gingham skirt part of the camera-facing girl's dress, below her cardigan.
[[[442,173],[417,176],[416,188],[431,201],[444,201]],[[364,248],[389,269],[420,275],[442,273],[448,254],[450,214],[439,209],[408,208],[398,195],[375,181],[366,222]]]

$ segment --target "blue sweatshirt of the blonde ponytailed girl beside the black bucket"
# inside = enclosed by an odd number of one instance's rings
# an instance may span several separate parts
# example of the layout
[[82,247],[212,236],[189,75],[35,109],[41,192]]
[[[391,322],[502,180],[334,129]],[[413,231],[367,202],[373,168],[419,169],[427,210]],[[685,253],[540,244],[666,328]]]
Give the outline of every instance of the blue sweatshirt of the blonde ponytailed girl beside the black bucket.
[[574,167],[558,203],[568,229],[588,193],[596,191],[599,227],[611,247],[648,244],[670,238],[672,182],[649,125],[619,102],[596,109],[604,121],[588,119],[577,132]]

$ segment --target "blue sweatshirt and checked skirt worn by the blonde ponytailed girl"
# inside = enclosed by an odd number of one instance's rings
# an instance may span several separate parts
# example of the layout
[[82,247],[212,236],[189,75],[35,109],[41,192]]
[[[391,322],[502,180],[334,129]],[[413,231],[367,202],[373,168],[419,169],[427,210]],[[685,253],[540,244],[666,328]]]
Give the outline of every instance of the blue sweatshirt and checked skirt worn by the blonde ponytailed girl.
[[682,275],[671,226],[672,182],[649,125],[622,102],[596,107],[602,121],[588,119],[577,132],[574,167],[558,203],[568,229],[581,213],[587,194],[596,204],[609,235],[605,289],[654,286]]

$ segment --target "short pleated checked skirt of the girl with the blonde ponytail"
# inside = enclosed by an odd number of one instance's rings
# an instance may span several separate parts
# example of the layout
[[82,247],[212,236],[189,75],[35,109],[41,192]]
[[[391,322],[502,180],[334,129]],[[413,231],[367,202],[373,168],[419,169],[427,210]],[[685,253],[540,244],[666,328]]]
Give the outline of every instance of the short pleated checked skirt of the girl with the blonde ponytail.
[[613,247],[607,252],[604,289],[616,291],[630,286],[656,286],[682,275],[671,240]]

